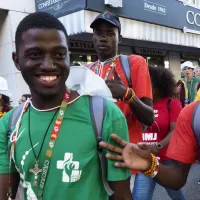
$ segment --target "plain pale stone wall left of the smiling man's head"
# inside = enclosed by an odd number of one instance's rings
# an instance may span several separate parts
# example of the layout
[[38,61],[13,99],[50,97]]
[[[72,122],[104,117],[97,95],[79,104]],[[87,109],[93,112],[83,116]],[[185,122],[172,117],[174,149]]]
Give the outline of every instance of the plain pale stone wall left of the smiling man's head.
[[17,105],[23,93],[30,93],[21,73],[12,61],[15,51],[15,31],[19,22],[35,12],[34,0],[0,1],[0,76],[6,78],[12,91],[12,105]]

